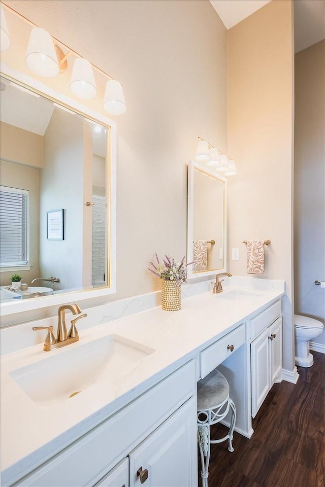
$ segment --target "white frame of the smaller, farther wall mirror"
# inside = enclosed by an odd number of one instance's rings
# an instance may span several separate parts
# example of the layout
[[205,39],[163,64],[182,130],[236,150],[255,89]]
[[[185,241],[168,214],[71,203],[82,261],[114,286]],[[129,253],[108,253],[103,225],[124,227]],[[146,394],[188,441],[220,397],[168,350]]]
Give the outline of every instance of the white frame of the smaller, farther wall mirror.
[[193,261],[193,204],[194,204],[194,170],[201,171],[209,176],[212,176],[216,180],[224,184],[223,191],[223,267],[220,269],[211,269],[202,272],[193,272],[192,266],[188,267],[187,279],[197,279],[198,277],[205,277],[209,275],[215,275],[219,272],[226,272],[227,268],[227,180],[222,176],[219,176],[213,169],[208,166],[199,164],[195,161],[188,162],[188,178],[187,178],[187,262]]

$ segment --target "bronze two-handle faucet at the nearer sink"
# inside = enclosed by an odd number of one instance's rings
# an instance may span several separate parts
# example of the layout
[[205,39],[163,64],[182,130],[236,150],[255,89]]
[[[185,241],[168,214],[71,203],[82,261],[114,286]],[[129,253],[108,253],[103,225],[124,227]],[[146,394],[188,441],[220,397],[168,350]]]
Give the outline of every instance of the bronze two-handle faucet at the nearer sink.
[[[73,315],[80,315],[74,320],[71,320],[71,328],[69,333],[67,332],[67,325],[66,325],[66,310],[72,312]],[[36,330],[47,330],[47,336],[44,341],[43,350],[48,352],[52,349],[57,349],[61,346],[69,345],[70,343],[74,343],[75,341],[79,340],[79,334],[76,329],[76,322],[80,320],[80,318],[85,318],[87,316],[86,313],[81,315],[81,309],[78,304],[63,304],[59,307],[58,310],[58,324],[57,324],[57,336],[56,339],[53,335],[53,326],[34,326],[32,329]]]

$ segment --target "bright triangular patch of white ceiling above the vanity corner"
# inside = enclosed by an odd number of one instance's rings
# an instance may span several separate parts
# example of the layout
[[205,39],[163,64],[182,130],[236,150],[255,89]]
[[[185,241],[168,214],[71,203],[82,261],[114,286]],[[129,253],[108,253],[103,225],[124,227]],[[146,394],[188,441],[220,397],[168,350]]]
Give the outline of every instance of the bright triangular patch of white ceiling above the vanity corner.
[[225,27],[230,29],[271,0],[210,0]]

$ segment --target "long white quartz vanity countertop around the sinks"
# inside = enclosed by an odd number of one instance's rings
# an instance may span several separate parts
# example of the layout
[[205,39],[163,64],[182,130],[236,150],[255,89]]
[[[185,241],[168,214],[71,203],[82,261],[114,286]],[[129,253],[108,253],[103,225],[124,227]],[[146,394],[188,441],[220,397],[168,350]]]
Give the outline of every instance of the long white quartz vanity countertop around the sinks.
[[[155,307],[89,327],[79,332],[77,343],[49,353],[43,352],[41,345],[35,345],[4,355],[1,358],[2,484],[26,475],[284,295],[283,281],[254,281],[260,283],[254,287],[256,295],[243,295],[236,301],[205,292],[183,299],[180,311]],[[240,284],[239,280],[226,286],[223,296],[241,289]],[[154,352],[140,360],[127,375],[122,369],[116,370],[107,380],[59,402],[32,401],[9,375],[22,366],[47,360],[49,355],[64,354],[72,347],[108,334],[134,340]]]

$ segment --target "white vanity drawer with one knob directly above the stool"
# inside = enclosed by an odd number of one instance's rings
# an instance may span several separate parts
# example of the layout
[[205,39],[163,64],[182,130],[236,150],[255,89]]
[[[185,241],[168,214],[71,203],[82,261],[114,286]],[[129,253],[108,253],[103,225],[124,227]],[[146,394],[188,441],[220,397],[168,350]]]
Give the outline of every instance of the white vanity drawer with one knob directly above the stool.
[[[215,369],[221,362],[235,352],[245,343],[245,325],[240,325],[236,330],[231,331],[220,340],[210,345],[200,354],[200,376],[203,379],[211,370]],[[233,345],[234,350],[228,348]]]

